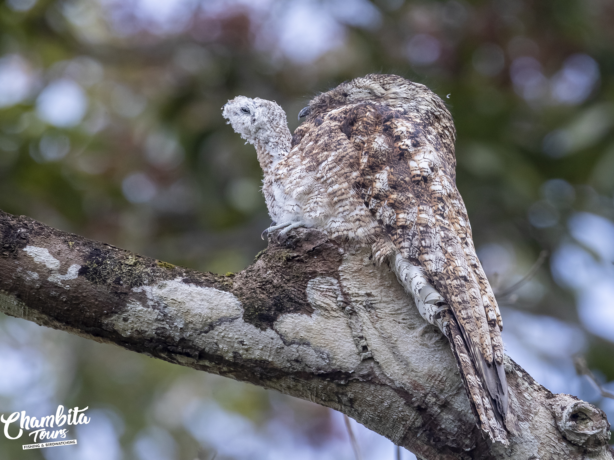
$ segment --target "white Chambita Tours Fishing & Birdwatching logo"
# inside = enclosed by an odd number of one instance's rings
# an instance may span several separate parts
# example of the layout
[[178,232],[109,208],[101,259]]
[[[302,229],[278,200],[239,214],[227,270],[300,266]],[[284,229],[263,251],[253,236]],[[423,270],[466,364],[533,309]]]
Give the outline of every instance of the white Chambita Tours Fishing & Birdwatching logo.
[[[0,421],[4,423],[4,435],[8,439],[19,439],[23,434],[23,431],[30,431],[28,436],[33,436],[33,443],[24,444],[23,449],[38,449],[41,447],[53,447],[53,446],[66,446],[74,445],[77,443],[76,439],[66,439],[66,434],[69,432],[68,428],[54,429],[68,425],[79,425],[90,423],[91,417],[85,415],[85,411],[90,406],[80,409],[78,406],[68,410],[68,415],[64,414],[64,406],[58,405],[58,410],[55,411],[55,415],[47,415],[41,417],[38,420],[34,416],[26,415],[26,411],[13,412],[9,415],[9,418],[4,418],[4,414],[0,416]],[[9,434],[10,431],[15,434],[17,427],[10,427],[10,424],[17,423],[19,421],[19,432],[15,436]],[[48,429],[49,428],[49,429]],[[42,442],[47,440],[46,442]]]

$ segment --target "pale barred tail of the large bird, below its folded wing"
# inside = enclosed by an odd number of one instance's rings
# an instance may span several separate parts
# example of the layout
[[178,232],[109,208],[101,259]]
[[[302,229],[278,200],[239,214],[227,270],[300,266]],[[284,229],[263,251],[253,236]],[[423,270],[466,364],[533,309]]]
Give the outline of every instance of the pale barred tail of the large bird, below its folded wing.
[[508,445],[506,427],[515,433],[516,421],[513,413],[508,411],[503,365],[488,365],[480,351],[467,347],[454,313],[430,284],[424,270],[411,264],[398,251],[391,258],[391,267],[405,291],[414,297],[422,318],[438,326],[448,337],[476,424],[493,441]]

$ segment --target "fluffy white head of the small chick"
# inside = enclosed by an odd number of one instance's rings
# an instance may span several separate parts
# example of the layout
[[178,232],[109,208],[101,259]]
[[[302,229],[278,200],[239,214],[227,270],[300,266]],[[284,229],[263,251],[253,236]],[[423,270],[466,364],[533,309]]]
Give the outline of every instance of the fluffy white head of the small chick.
[[235,132],[250,144],[267,144],[288,130],[286,112],[276,102],[260,98],[236,96],[222,107]]

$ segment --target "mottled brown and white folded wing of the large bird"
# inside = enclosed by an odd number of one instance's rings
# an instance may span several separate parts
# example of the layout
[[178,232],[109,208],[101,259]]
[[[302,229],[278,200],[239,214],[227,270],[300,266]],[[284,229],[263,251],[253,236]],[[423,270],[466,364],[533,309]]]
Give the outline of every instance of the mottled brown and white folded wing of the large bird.
[[392,245],[424,269],[451,307],[495,413],[505,418],[499,307],[456,188],[454,145],[435,126],[437,120],[402,107],[356,104],[340,129],[359,152],[357,186],[383,234],[374,253],[383,261]]

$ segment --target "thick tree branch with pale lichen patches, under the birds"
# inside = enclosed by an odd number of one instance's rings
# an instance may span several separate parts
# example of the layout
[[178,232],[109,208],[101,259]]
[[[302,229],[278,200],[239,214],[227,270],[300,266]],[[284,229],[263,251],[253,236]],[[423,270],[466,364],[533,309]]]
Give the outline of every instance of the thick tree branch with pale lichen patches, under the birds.
[[423,459],[614,459],[598,408],[505,358],[520,432],[484,439],[445,337],[387,266],[309,230],[200,273],[0,212],[0,311],[332,407]]

